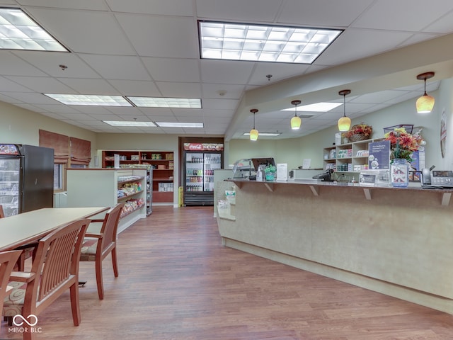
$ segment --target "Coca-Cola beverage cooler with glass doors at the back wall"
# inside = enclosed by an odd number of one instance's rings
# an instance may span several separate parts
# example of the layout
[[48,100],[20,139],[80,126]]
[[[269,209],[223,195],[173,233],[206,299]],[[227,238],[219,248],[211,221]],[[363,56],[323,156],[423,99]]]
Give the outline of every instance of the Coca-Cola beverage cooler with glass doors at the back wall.
[[214,205],[214,171],[222,169],[223,144],[184,143],[184,205]]

